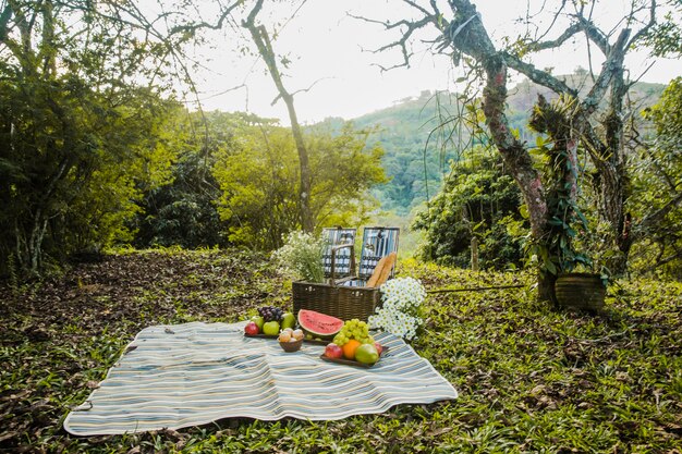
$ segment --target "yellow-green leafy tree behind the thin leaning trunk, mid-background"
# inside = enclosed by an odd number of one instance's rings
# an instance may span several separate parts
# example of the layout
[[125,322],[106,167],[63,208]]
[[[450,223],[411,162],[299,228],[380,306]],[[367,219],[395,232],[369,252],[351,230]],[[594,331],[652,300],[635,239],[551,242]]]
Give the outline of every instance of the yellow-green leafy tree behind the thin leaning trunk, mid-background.
[[[301,226],[297,152],[288,128],[255,118],[238,123],[239,140],[219,151],[214,165],[222,192],[218,211],[230,242],[273,249]],[[368,189],[385,181],[382,150],[365,146],[367,134],[352,125],[336,135],[321,127],[306,132],[317,226],[362,224],[376,207]]]

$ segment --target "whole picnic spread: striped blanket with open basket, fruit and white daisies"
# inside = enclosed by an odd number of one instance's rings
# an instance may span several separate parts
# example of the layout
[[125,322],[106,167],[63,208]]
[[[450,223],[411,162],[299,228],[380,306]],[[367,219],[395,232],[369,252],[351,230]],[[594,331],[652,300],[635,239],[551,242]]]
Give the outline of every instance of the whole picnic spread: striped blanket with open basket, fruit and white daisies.
[[293,282],[291,312],[263,306],[236,323],[144,329],[68,415],[65,430],[123,434],[234,417],[336,420],[456,398],[454,388],[402,339],[414,330],[369,330],[368,320],[385,321],[382,311],[425,295],[411,278],[389,281],[398,229],[365,229],[360,271],[355,230],[326,229],[324,235],[328,281]]

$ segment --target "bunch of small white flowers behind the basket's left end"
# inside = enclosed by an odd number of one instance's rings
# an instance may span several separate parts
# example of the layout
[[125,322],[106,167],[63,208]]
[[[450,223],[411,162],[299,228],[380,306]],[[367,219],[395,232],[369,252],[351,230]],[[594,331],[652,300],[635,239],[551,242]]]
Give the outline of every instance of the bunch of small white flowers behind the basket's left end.
[[321,237],[295,231],[285,237],[284,245],[272,254],[272,258],[279,270],[291,279],[324,282],[325,246]]

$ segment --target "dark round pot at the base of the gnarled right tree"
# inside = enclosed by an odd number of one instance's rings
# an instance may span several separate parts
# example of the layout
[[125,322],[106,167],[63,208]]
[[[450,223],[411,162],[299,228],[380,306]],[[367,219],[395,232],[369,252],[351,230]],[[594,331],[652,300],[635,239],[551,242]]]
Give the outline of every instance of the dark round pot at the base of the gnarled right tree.
[[599,274],[564,273],[557,278],[555,293],[559,306],[596,312],[604,307],[606,286]]

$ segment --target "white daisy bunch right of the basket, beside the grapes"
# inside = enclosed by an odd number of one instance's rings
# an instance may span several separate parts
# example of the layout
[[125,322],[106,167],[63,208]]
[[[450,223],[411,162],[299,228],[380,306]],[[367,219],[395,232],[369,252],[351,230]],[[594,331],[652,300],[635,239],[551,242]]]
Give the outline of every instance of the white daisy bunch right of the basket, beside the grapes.
[[426,290],[414,278],[397,278],[381,285],[381,308],[369,316],[369,324],[400,338],[412,340],[422,324],[418,308],[424,303]]

